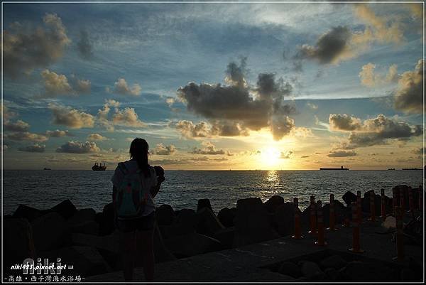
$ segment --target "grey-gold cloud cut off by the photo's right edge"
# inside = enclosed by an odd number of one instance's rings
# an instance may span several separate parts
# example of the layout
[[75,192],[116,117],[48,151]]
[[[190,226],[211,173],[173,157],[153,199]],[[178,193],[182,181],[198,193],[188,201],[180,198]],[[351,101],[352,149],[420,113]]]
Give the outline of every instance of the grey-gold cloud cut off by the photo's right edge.
[[409,114],[423,113],[423,72],[425,61],[420,59],[413,71],[404,72],[394,95],[394,107]]

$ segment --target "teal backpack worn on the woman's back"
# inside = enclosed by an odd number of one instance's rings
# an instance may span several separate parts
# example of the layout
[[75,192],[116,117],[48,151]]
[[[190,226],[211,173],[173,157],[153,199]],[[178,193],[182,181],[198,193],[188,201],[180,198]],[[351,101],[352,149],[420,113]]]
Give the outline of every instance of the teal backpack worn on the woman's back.
[[119,220],[132,220],[141,217],[145,210],[148,192],[141,181],[141,171],[128,171],[124,163],[119,163],[124,174],[116,190],[116,216]]

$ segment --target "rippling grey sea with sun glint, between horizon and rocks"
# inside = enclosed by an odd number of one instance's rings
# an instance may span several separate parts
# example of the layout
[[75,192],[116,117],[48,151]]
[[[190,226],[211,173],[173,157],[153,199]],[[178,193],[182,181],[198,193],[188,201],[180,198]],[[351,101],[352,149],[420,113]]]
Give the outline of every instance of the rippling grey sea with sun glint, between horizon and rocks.
[[[113,171],[4,171],[4,214],[13,213],[19,204],[50,208],[70,199],[77,208],[102,211],[111,202]],[[400,184],[422,185],[422,171],[166,171],[155,203],[175,209],[197,208],[197,200],[209,198],[215,211],[235,207],[236,200],[259,197],[268,200],[281,195],[285,200],[297,196],[301,208],[310,195],[323,201],[329,193],[342,200],[347,191],[361,193],[380,188],[392,195]]]

